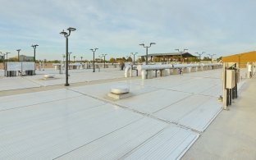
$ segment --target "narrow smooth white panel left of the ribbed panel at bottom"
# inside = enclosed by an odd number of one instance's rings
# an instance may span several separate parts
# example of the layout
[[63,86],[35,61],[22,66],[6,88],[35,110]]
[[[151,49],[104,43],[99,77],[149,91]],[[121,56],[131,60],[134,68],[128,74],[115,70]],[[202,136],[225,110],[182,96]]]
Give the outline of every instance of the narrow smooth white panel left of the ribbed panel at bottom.
[[109,135],[66,153],[60,159],[118,159],[137,149],[167,124],[148,117],[139,119]]

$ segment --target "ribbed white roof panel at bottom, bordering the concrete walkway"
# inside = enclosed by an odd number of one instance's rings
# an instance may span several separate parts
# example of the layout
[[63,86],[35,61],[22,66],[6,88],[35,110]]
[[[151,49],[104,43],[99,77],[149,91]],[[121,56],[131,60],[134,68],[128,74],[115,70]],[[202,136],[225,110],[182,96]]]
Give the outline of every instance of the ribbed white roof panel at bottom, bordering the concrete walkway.
[[126,159],[178,159],[199,137],[190,130],[168,127],[126,155]]

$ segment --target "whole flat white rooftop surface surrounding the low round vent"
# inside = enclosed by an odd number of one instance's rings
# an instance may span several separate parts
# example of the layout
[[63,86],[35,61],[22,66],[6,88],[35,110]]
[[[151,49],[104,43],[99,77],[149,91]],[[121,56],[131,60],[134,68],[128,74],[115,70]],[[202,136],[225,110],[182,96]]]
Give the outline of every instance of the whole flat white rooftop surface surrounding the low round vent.
[[[181,158],[222,110],[221,72],[0,97],[0,159]],[[99,79],[121,73],[105,71]],[[25,79],[34,85],[35,77]],[[131,97],[108,98],[114,85],[129,86]]]

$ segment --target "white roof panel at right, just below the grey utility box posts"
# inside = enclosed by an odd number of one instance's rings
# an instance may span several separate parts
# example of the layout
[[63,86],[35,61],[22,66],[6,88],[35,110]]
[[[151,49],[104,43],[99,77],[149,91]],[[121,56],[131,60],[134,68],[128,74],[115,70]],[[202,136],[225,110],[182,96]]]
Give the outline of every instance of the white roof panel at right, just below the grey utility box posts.
[[222,110],[222,103],[215,97],[192,95],[162,109],[155,117],[203,131]]

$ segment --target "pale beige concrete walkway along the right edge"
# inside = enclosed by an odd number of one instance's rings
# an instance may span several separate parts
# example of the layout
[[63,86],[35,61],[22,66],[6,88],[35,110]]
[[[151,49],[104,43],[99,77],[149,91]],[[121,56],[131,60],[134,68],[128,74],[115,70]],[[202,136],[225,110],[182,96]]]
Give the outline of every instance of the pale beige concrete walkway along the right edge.
[[256,159],[256,77],[247,80],[182,159]]

